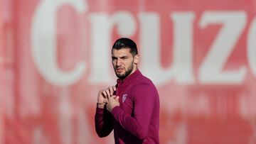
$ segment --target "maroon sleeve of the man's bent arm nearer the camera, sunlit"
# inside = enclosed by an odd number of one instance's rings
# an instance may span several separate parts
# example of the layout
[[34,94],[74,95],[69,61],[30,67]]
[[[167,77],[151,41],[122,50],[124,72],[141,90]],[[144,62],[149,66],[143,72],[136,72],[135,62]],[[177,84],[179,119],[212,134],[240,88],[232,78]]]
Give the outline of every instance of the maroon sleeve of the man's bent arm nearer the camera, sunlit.
[[146,83],[135,87],[133,93],[134,116],[130,116],[119,106],[112,109],[112,114],[124,129],[137,138],[143,139],[149,133],[149,124],[152,121],[151,117],[154,114],[155,106],[157,106],[156,101],[159,101],[159,96],[155,87]]

